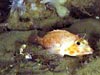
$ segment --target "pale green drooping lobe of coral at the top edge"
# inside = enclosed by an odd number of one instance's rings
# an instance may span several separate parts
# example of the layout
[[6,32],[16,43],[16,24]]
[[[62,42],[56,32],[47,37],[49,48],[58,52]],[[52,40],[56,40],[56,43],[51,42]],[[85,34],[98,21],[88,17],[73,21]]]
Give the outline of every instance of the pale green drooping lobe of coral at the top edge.
[[56,8],[56,11],[60,17],[69,15],[69,10],[63,6],[67,0],[42,0],[42,3],[50,3]]

